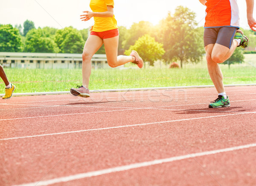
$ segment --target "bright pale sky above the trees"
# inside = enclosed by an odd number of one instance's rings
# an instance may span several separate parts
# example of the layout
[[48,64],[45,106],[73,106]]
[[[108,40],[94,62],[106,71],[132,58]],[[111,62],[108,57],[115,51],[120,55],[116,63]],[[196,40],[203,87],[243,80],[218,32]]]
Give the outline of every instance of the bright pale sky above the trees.
[[[50,26],[77,29],[88,28],[93,20],[81,22],[82,11],[90,10],[90,0],[1,0],[0,24],[21,24],[32,20],[35,27]],[[249,29],[246,19],[245,0],[238,0],[240,7],[240,25]],[[141,20],[157,24],[168,12],[173,13],[177,6],[186,6],[197,15],[200,26],[204,25],[205,7],[199,0],[115,0],[114,14],[119,26],[129,28]],[[255,18],[255,8],[254,8]]]

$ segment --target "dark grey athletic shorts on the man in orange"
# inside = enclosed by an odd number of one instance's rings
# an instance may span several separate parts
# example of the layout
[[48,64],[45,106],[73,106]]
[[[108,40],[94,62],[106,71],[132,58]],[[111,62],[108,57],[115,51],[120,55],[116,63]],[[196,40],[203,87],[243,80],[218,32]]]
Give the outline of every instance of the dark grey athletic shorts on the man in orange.
[[204,28],[204,46],[218,43],[230,48],[237,29],[231,26]]

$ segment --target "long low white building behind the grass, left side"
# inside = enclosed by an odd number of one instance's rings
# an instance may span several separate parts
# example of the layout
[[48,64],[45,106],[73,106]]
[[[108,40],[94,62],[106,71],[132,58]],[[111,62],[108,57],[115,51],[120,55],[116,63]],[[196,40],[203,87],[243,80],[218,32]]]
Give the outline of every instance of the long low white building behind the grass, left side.
[[[105,54],[95,54],[92,68],[111,68]],[[0,64],[7,68],[82,68],[82,54],[0,52]]]

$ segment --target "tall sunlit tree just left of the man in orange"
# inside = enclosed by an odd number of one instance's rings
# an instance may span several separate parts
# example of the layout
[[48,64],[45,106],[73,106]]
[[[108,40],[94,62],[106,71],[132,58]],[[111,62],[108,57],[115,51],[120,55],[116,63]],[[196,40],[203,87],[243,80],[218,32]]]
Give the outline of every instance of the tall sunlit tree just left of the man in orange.
[[160,38],[166,51],[166,62],[180,60],[182,68],[184,62],[199,62],[204,54],[203,36],[195,29],[195,13],[189,8],[178,6],[172,17],[169,13],[160,22]]

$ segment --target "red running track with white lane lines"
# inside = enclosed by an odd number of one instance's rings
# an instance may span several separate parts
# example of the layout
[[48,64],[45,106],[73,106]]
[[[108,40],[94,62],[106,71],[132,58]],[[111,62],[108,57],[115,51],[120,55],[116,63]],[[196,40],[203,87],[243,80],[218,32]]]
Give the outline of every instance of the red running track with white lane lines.
[[256,87],[0,100],[0,185],[255,186]]

